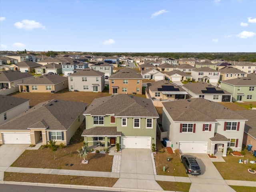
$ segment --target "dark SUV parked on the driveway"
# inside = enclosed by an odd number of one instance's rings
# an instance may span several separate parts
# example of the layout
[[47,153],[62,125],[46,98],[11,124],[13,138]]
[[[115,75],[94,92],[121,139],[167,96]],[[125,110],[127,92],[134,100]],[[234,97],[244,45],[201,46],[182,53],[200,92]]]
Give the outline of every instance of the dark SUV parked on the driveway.
[[191,175],[200,175],[201,169],[196,161],[196,157],[184,154],[181,156],[181,162],[184,164],[186,173]]

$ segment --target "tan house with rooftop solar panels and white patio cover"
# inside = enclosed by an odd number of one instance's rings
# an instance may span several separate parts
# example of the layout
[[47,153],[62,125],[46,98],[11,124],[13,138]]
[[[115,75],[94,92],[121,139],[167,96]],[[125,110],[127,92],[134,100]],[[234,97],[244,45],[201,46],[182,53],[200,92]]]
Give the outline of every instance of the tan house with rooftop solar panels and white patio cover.
[[147,84],[146,96],[150,99],[155,98],[160,101],[186,99],[188,93],[181,87],[166,81],[156,81]]

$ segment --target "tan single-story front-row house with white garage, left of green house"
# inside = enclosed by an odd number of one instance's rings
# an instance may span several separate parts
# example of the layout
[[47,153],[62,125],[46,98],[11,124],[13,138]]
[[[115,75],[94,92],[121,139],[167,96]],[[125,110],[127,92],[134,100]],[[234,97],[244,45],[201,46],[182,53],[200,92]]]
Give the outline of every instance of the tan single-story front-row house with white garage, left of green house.
[[0,144],[69,144],[70,139],[84,123],[86,103],[49,100],[0,126]]

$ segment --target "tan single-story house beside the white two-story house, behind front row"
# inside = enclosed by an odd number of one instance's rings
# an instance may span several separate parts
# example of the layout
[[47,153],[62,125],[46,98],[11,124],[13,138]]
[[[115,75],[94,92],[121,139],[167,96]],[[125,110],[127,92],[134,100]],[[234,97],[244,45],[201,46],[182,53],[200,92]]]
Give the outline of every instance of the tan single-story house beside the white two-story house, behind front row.
[[20,92],[56,93],[68,88],[68,78],[55,74],[45,74],[27,82],[19,83]]

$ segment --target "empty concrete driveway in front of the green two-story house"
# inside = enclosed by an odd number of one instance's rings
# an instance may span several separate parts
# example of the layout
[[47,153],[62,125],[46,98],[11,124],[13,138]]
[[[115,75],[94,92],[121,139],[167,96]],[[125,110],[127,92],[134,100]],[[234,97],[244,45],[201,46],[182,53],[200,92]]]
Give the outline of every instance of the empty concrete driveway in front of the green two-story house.
[[162,190],[155,181],[149,149],[123,149],[120,178],[113,187]]

